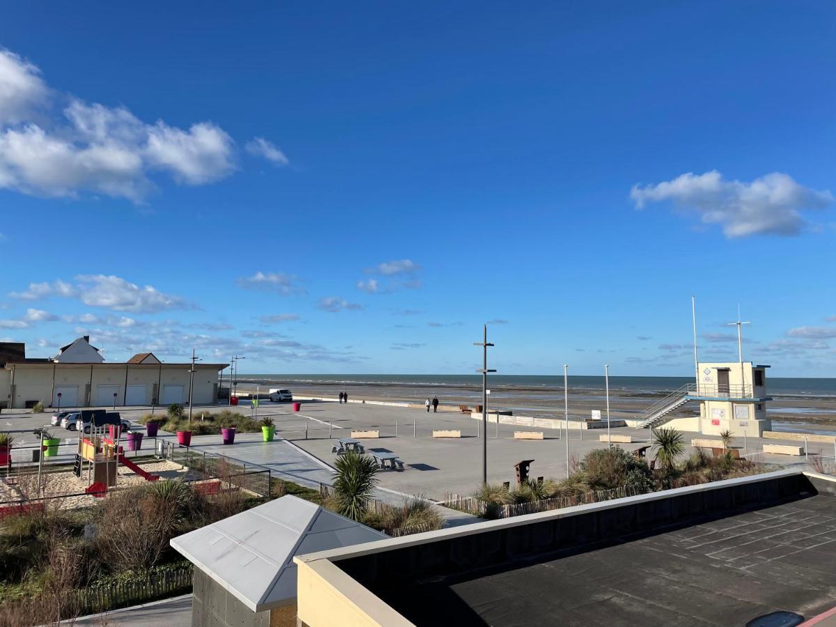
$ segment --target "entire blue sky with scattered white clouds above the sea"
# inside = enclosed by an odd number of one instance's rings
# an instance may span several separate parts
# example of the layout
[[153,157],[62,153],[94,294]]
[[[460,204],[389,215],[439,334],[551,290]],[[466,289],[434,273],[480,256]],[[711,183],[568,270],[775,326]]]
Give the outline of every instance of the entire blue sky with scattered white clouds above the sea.
[[0,337],[241,370],[836,365],[836,9],[17,3]]

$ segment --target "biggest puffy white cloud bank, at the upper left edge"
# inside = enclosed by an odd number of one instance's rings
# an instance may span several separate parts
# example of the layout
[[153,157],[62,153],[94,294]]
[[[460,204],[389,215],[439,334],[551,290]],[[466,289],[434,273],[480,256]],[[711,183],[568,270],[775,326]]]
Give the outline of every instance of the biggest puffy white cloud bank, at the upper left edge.
[[182,130],[146,124],[125,107],[69,99],[64,117],[34,115],[54,100],[38,69],[0,49],[0,188],[37,196],[91,191],[141,201],[163,171],[204,185],[234,169],[235,143],[211,122]]

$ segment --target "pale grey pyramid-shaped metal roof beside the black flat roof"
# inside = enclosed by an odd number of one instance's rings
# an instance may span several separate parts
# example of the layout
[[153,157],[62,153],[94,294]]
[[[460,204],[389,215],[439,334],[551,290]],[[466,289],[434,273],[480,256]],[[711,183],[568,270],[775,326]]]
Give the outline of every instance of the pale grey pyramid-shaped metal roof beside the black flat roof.
[[171,539],[171,546],[253,612],[296,600],[293,556],[388,538],[287,495]]

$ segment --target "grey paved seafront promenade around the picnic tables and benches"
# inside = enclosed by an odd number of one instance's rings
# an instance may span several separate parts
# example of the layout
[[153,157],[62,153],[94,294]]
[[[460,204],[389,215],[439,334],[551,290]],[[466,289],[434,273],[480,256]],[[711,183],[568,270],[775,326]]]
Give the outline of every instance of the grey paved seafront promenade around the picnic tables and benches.
[[[195,420],[199,420],[201,411],[217,411],[222,407],[196,408]],[[239,405],[237,410],[251,413],[247,405]],[[137,421],[147,409],[121,410],[123,416]],[[445,492],[469,495],[474,492],[482,479],[482,421],[474,420],[470,415],[455,411],[427,413],[423,408],[399,405],[374,405],[370,403],[349,403],[339,405],[331,401],[304,401],[302,410],[293,413],[287,403],[262,401],[258,415],[272,415],[276,423],[277,441],[263,442],[257,433],[239,433],[232,446],[223,446],[221,436],[195,436],[192,448],[196,451],[218,452],[237,460],[267,467],[278,477],[298,482],[308,487],[318,487],[319,483],[331,483],[330,464],[334,462],[331,446],[340,437],[350,436],[354,429],[380,431],[379,439],[365,439],[367,450],[390,451],[405,463],[403,472],[380,472],[379,496],[387,502],[402,500],[402,495],[423,494],[433,500],[441,500]],[[7,413],[0,415],[0,428],[18,431],[16,445],[35,445],[31,434],[34,426],[43,426],[48,415],[28,413]],[[461,438],[438,439],[431,436],[434,430],[461,431]],[[543,431],[543,440],[514,440],[514,431]],[[70,445],[75,442],[74,432],[53,428],[55,434],[68,438]],[[613,428],[613,434],[631,436],[633,442],[621,444],[624,450],[633,451],[640,446],[650,444],[647,430],[630,427]],[[599,436],[606,434],[606,429],[570,430],[568,433],[568,459],[579,460],[595,448],[607,446],[599,441]],[[543,428],[521,427],[512,425],[498,426],[492,423],[487,428],[488,480],[491,482],[513,482],[513,466],[518,461],[534,460],[531,465],[532,477],[566,476],[567,455],[565,431]],[[683,432],[686,454],[690,454],[692,438],[706,439],[696,433]],[[161,434],[163,438],[173,438],[172,434]],[[282,441],[285,439],[287,441]],[[710,438],[711,439],[711,438]],[[781,464],[785,467],[805,465],[804,456],[784,456],[762,454],[763,445],[780,443],[770,438],[742,438],[732,441],[732,446],[741,449],[757,461]],[[798,445],[798,441],[788,438],[788,444]],[[144,442],[143,449],[150,452],[153,442]],[[833,445],[824,442],[809,442],[811,456],[823,456],[826,463],[833,463]],[[73,446],[63,446],[61,458],[71,459]],[[394,491],[385,492],[386,490]]]

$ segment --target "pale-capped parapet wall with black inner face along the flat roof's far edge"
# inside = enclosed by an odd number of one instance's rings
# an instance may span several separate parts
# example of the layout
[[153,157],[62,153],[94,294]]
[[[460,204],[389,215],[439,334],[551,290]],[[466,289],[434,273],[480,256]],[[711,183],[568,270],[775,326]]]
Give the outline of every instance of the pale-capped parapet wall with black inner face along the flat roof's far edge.
[[816,492],[800,471],[769,472],[418,533],[314,553],[303,559],[333,561],[343,573],[373,593],[409,585],[415,579],[494,567],[563,548],[576,549],[623,538],[630,533],[656,533],[669,525],[695,524]]

